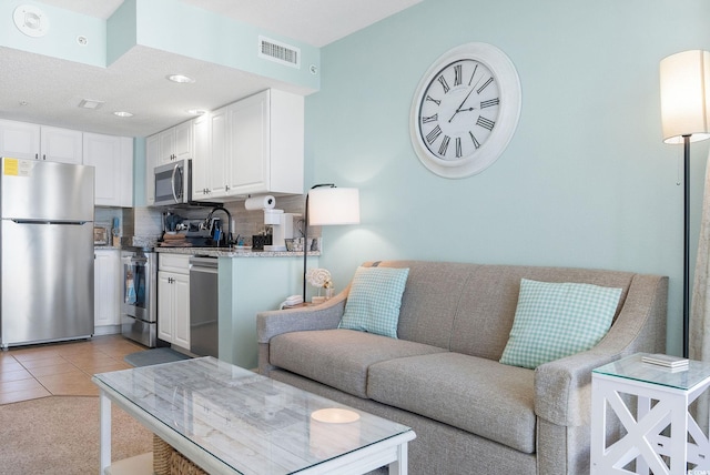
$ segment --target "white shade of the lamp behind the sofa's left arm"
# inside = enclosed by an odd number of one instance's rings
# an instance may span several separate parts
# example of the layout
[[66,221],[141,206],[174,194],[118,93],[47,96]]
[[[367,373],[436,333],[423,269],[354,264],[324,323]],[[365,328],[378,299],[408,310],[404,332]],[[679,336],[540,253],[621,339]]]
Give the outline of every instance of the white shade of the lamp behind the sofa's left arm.
[[308,224],[359,223],[359,192],[356,188],[316,188],[308,192]]

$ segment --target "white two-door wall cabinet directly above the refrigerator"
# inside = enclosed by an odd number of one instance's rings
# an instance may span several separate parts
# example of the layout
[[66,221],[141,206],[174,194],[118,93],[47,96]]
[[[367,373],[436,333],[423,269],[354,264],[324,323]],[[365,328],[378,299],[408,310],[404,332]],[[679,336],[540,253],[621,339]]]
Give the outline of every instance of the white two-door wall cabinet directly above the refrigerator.
[[0,120],[0,155],[81,164],[82,133],[55,127]]

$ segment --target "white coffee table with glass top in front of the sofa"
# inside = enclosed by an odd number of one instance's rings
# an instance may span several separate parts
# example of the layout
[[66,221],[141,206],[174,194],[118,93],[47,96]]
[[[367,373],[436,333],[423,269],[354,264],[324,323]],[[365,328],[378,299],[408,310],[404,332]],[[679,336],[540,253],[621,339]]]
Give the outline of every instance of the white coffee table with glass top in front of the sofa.
[[416,437],[402,424],[213,357],[97,374],[93,382],[101,388],[102,474],[111,465],[111,403],[211,474],[362,474],[388,465],[404,475]]

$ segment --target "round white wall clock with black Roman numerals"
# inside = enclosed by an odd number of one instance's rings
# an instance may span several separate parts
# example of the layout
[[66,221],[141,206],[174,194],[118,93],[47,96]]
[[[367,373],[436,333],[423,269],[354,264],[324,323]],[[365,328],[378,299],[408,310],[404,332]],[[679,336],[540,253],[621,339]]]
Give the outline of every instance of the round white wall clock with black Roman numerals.
[[513,61],[491,44],[462,44],[437,59],[419,81],[409,113],[412,144],[437,175],[470,176],[506,149],[520,105]]

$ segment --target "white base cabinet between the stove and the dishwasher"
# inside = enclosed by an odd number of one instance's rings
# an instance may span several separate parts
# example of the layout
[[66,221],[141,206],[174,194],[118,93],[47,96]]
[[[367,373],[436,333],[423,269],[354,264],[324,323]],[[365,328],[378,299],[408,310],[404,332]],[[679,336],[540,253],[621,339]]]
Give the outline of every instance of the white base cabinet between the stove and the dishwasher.
[[158,337],[190,351],[190,256],[160,253]]

